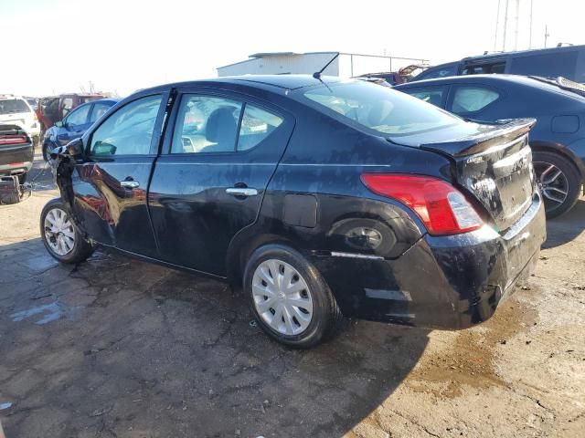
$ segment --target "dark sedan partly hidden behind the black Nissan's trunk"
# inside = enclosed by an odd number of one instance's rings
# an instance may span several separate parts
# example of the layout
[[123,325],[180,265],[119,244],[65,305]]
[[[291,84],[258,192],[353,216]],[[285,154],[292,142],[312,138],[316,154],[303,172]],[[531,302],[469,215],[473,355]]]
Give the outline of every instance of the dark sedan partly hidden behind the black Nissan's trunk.
[[547,216],[577,202],[585,181],[585,87],[565,79],[475,75],[396,87],[470,120],[529,117],[530,147]]

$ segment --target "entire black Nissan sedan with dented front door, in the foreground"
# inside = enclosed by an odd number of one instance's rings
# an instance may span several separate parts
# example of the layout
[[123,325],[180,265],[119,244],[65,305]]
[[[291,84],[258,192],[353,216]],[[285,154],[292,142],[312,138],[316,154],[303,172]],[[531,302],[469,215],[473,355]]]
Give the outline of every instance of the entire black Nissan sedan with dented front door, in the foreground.
[[64,263],[103,245],[226,279],[296,347],[344,316],[466,328],[545,240],[533,123],[469,122],[338,78],[144,89],[53,151],[61,197],[41,235]]

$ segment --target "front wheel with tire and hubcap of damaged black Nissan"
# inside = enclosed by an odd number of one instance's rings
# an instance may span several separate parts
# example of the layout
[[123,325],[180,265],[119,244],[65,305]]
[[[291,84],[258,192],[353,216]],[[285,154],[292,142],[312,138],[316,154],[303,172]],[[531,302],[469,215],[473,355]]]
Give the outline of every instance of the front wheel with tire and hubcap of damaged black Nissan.
[[[51,212],[53,213],[51,214]],[[62,214],[65,214],[65,217]],[[47,217],[49,217],[48,222],[46,222]],[[58,221],[59,218],[62,222]],[[51,221],[54,224],[62,224],[62,227],[58,227],[58,232],[48,231],[46,225],[48,226]],[[61,235],[61,244],[58,243],[58,235]],[[48,254],[61,263],[78,264],[84,262],[94,251],[93,245],[80,235],[80,231],[69,218],[65,204],[60,199],[53,199],[43,207],[40,214],[40,236]],[[69,236],[73,236],[72,244]]]

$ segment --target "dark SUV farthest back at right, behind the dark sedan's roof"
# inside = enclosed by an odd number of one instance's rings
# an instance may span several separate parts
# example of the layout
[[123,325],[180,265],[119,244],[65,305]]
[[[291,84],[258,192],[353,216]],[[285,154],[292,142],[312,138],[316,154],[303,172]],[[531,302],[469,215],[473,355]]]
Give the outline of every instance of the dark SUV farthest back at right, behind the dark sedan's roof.
[[507,73],[511,75],[568,78],[585,83],[585,46],[569,46],[492,53],[431,67],[411,81],[460,75]]

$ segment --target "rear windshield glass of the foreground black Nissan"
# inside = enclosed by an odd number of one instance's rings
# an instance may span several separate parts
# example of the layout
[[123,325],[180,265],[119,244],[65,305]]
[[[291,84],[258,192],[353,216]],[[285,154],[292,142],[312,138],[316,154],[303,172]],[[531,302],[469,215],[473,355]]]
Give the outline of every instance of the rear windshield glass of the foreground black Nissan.
[[316,102],[319,110],[333,111],[346,121],[388,137],[464,123],[462,119],[408,94],[362,81],[322,85],[304,91],[303,96]]

